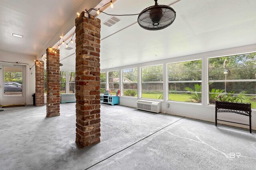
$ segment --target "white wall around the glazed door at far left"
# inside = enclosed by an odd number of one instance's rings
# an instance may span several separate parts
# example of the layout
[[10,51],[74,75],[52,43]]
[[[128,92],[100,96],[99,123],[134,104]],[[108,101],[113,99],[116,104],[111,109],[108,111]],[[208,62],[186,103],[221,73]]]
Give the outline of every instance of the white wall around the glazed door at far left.
[[[36,56],[33,55],[25,55],[20,53],[12,53],[7,51],[0,51],[0,61],[9,61],[9,62],[22,62],[28,63],[29,65],[34,65],[34,59]],[[31,70],[28,65],[26,66],[26,105],[33,104],[32,93],[35,93],[35,67]]]

